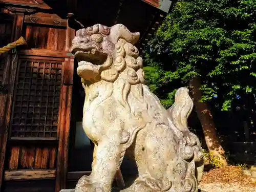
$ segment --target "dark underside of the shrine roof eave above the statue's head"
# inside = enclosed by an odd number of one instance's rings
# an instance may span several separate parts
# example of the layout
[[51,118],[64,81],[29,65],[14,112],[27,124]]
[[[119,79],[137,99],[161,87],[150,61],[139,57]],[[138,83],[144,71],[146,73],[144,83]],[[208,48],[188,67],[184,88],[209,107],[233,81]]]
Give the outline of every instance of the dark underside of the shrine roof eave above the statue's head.
[[[167,12],[172,8],[169,0],[36,0],[26,1],[1,0],[0,4],[43,9],[67,19],[68,13],[74,13],[84,27],[94,24],[113,26],[125,25],[131,32],[140,32],[140,40],[136,46],[142,48],[151,39]],[[167,2],[167,9],[156,8],[153,2]],[[169,3],[170,2],[170,3]],[[169,6],[169,7],[168,7]],[[161,10],[162,9],[162,10]],[[168,11],[166,11],[168,10]]]

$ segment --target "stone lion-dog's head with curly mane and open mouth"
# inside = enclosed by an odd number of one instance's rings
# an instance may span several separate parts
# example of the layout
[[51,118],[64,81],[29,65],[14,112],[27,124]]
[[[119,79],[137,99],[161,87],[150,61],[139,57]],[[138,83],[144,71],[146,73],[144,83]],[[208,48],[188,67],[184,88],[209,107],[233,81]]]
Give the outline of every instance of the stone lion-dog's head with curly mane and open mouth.
[[71,48],[78,60],[78,75],[91,82],[114,82],[122,73],[132,84],[138,83],[143,75],[142,58],[134,46],[139,35],[120,24],[111,28],[97,24],[78,30]]

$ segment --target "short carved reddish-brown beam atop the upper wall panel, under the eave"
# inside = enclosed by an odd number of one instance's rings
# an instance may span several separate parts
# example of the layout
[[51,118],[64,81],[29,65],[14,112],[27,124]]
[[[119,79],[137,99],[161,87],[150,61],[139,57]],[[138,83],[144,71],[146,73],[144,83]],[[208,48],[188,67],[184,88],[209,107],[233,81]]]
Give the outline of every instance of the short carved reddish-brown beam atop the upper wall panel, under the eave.
[[67,19],[57,19],[57,18],[26,15],[24,19],[24,23],[66,27]]

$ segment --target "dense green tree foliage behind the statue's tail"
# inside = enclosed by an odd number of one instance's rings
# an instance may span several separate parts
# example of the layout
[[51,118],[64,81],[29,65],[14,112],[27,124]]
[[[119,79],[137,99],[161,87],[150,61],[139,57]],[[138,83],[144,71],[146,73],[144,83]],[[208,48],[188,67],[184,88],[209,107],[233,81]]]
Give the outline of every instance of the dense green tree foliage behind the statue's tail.
[[177,1],[144,52],[148,86],[167,108],[190,78],[201,101],[229,110],[256,93],[256,1]]

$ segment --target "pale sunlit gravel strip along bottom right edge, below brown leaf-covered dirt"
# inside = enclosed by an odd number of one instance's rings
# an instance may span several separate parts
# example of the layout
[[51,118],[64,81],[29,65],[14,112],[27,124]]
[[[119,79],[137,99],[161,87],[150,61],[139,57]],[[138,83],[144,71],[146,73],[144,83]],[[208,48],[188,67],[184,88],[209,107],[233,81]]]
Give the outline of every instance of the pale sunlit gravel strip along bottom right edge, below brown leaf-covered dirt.
[[199,188],[205,192],[255,192],[255,186],[243,186],[241,183],[204,183]]

